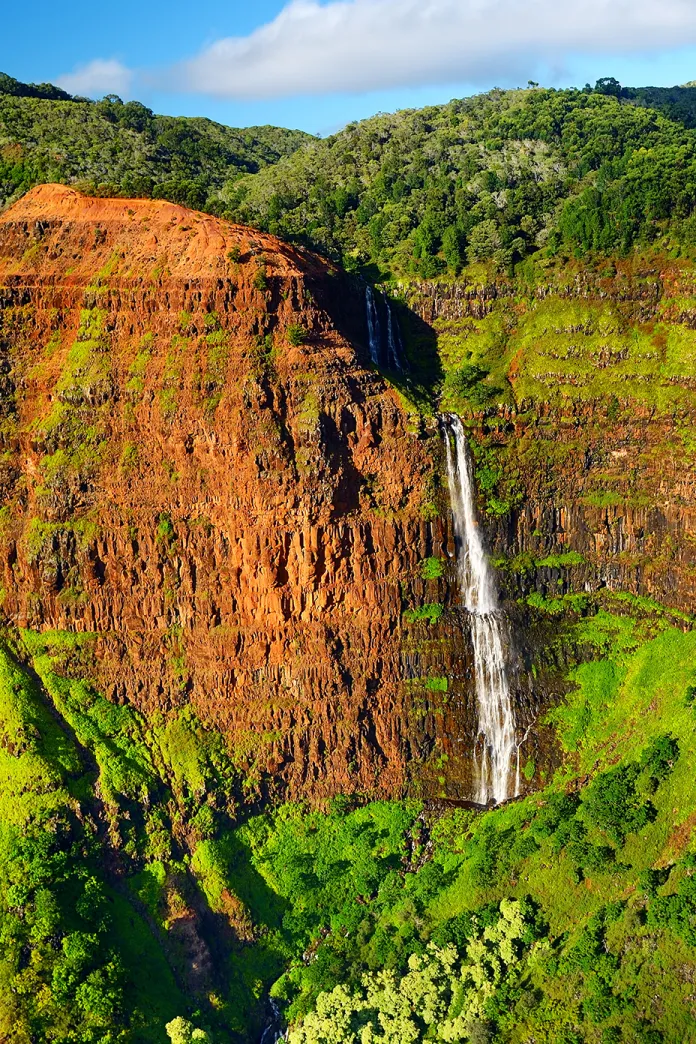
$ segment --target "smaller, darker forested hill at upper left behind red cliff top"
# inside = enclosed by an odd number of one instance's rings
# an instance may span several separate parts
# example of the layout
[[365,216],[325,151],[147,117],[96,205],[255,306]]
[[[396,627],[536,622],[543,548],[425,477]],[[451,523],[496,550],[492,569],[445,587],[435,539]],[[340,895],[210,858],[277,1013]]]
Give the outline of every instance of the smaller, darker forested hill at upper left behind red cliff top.
[[72,98],[0,74],[0,207],[32,185],[148,196],[203,209],[235,174],[277,163],[310,135],[157,116],[138,101]]

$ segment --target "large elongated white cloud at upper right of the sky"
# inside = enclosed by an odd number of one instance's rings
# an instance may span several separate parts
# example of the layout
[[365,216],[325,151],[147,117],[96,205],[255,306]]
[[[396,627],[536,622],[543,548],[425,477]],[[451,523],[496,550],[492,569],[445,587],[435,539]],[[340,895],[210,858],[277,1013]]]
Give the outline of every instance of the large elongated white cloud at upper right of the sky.
[[291,0],[248,37],[178,67],[230,98],[510,82],[572,54],[696,43],[694,0]]

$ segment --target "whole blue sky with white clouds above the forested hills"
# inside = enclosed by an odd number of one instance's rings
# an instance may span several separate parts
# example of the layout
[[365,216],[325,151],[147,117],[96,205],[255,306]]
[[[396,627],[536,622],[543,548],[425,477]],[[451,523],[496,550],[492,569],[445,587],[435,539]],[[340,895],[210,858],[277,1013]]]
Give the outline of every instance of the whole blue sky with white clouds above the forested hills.
[[0,69],[328,134],[494,86],[696,79],[694,0],[119,0],[3,11]]

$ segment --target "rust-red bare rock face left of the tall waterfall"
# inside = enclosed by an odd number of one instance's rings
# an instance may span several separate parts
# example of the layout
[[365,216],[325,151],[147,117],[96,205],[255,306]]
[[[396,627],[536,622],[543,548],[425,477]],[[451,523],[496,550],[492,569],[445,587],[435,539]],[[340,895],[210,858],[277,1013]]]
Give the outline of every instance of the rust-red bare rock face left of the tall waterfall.
[[190,703],[290,794],[401,792],[439,728],[402,623],[448,540],[439,440],[367,369],[354,292],[167,203],[0,215],[6,620],[96,632],[109,698]]

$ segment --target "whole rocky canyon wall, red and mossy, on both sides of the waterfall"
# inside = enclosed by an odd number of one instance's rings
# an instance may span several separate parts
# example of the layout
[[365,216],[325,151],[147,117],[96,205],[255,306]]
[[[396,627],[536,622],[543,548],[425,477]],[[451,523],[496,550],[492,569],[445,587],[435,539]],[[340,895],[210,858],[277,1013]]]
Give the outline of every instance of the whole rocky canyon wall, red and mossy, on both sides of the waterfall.
[[[693,602],[693,379],[664,333],[696,336],[689,292],[679,272],[407,289],[405,328],[446,350],[497,324],[508,401],[470,424],[521,735],[582,650],[520,599]],[[45,186],[0,215],[0,306],[5,624],[94,633],[73,669],[146,717],[191,705],[249,793],[470,798],[441,433],[369,365],[364,289],[171,204]],[[522,757],[552,767],[551,731]]]

